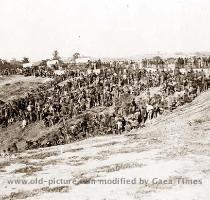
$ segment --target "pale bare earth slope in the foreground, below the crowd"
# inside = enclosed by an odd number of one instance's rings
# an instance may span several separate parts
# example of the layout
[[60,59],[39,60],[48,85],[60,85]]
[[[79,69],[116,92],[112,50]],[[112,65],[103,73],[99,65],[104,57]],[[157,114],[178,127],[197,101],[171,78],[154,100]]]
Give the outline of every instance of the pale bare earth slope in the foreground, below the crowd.
[[143,129],[0,159],[4,200],[209,200],[209,180],[210,91]]

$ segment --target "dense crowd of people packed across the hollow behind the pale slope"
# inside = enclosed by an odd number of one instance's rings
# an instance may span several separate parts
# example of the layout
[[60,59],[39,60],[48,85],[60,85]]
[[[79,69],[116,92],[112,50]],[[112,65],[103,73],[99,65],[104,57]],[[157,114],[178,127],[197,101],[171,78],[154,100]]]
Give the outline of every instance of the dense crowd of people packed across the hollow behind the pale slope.
[[[8,102],[0,108],[0,126],[41,122],[55,126],[55,132],[36,141],[27,141],[27,148],[70,143],[98,134],[121,134],[143,127],[164,111],[191,102],[208,89],[209,77],[204,71],[154,71],[119,62],[68,70],[55,77],[53,72],[33,69],[35,76],[55,79],[31,91],[24,98]],[[152,88],[159,92],[152,94]],[[72,123],[74,122],[74,123]],[[14,144],[13,144],[14,146]]]

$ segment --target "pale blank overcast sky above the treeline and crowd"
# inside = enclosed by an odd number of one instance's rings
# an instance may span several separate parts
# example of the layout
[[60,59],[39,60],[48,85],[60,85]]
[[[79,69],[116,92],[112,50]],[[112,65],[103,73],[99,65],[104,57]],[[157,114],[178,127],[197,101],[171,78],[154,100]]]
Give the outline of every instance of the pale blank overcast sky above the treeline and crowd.
[[0,0],[0,58],[210,51],[209,0]]

